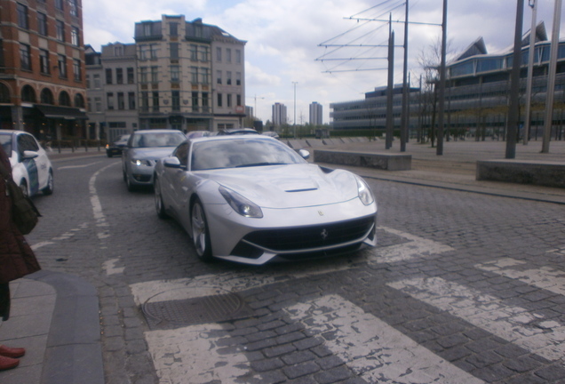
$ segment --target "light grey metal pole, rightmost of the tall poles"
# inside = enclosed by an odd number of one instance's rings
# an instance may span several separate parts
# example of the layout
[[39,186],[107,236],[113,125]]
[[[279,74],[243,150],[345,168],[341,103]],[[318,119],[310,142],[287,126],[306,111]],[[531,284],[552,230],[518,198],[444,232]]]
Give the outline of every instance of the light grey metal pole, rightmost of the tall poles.
[[547,92],[545,97],[545,124],[542,153],[549,153],[553,125],[553,98],[555,96],[555,70],[557,68],[557,51],[559,49],[559,29],[561,24],[561,0],[555,0],[553,11],[552,44],[549,57],[549,73],[547,74]]

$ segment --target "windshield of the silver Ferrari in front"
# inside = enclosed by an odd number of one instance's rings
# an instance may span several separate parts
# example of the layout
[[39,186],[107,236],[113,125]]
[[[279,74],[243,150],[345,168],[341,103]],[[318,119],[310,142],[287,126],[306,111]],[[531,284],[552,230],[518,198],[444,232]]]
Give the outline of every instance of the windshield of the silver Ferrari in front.
[[304,159],[280,141],[250,137],[195,142],[192,170],[304,163]]

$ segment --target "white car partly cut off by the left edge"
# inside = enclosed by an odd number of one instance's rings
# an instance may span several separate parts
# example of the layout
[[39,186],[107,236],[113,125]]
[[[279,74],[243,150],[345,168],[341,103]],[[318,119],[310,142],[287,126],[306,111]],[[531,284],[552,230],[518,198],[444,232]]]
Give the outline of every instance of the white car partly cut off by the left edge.
[[53,193],[53,168],[36,138],[23,131],[0,130],[0,145],[10,157],[12,178],[24,194]]

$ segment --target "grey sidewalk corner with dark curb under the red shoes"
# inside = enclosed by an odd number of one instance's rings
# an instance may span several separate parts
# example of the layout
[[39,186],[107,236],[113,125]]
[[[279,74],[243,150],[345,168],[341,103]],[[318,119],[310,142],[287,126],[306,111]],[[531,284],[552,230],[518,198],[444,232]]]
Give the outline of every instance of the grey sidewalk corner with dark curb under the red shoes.
[[104,384],[98,293],[83,279],[38,271],[10,284],[0,344],[26,348],[2,384]]

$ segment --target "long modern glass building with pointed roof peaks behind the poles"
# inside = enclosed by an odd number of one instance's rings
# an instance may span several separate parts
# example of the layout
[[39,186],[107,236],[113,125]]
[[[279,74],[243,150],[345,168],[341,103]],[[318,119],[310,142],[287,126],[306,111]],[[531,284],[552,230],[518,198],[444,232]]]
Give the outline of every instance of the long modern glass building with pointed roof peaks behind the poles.
[[[534,49],[532,130],[530,137],[541,132],[545,117],[545,95],[551,42],[547,39],[545,25],[536,28]],[[521,50],[520,102],[521,119],[524,118],[526,78],[529,60],[529,33],[523,36]],[[510,72],[513,67],[513,47],[489,54],[482,38],[470,44],[447,66],[445,90],[446,124],[451,131],[504,137],[509,104]],[[559,44],[554,100],[559,108],[553,109],[553,132],[562,126],[565,118],[565,41]],[[433,124],[434,92],[424,94],[410,88],[409,129],[426,130]],[[333,128],[336,130],[378,129],[386,127],[386,87],[368,92],[364,100],[330,104]],[[402,88],[394,88],[394,128],[400,128]],[[435,120],[437,121],[437,120]]]

